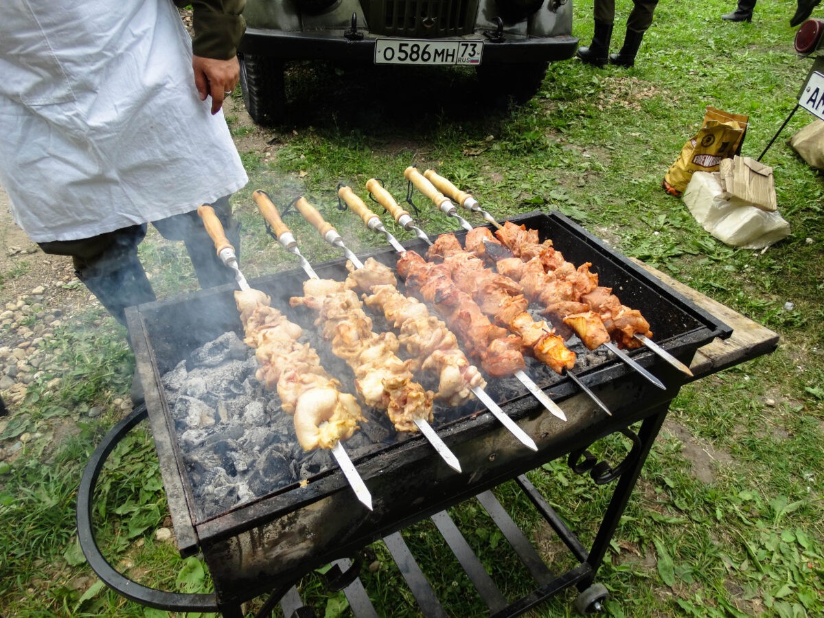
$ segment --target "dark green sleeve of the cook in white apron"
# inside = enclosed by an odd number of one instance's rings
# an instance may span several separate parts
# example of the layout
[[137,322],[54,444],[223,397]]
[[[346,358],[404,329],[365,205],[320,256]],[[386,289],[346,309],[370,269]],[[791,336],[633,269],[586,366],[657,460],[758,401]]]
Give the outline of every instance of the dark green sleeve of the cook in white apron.
[[177,7],[192,5],[196,56],[228,60],[237,54],[237,45],[246,31],[241,12],[246,0],[174,0]]

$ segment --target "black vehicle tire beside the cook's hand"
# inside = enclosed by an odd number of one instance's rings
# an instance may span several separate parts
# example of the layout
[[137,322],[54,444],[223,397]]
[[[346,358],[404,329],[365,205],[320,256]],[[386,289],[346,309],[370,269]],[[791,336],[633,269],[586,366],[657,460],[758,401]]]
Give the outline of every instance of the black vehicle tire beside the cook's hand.
[[238,54],[241,63],[243,105],[256,124],[283,122],[286,91],[283,60],[256,54]]

